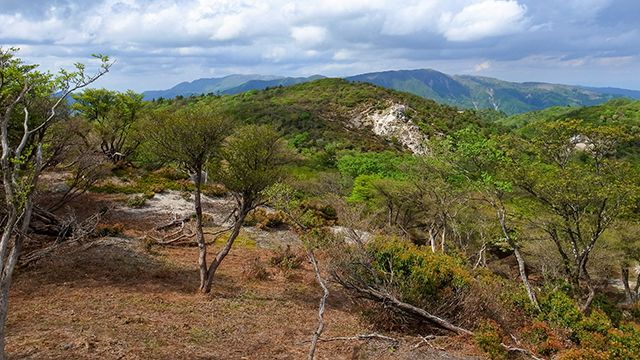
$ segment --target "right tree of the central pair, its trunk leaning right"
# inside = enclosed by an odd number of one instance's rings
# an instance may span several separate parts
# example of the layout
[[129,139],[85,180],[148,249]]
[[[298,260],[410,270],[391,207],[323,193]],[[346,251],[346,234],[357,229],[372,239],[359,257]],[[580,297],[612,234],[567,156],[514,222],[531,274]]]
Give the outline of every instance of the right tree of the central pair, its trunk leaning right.
[[[236,206],[234,225],[227,241],[206,270],[201,290],[211,291],[216,270],[229,254],[247,214],[266,201],[264,190],[278,182],[290,154],[278,133],[265,125],[248,125],[225,140],[218,164],[218,179],[233,195]],[[201,253],[206,261],[206,248]],[[201,271],[202,271],[201,265]]]

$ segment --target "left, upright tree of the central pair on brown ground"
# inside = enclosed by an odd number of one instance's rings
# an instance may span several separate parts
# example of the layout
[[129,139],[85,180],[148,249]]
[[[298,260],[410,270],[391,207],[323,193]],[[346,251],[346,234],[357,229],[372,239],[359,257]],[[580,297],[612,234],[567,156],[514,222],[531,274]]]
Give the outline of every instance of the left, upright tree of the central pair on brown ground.
[[217,109],[205,103],[195,103],[180,110],[165,109],[153,114],[147,125],[146,137],[156,156],[176,162],[193,175],[196,212],[196,242],[200,290],[209,292],[207,245],[202,229],[202,183],[207,164],[217,155],[224,138],[231,133],[233,123]]

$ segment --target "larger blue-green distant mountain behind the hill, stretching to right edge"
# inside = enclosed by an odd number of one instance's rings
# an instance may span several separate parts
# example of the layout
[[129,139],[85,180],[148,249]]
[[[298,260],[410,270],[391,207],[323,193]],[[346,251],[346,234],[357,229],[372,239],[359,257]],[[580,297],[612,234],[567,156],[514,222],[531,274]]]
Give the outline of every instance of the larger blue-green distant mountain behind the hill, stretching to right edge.
[[551,106],[592,106],[617,97],[640,99],[640,91],[634,90],[515,83],[481,76],[452,76],[430,69],[368,73],[347,77],[346,80],[406,91],[458,107],[489,108],[507,114]]

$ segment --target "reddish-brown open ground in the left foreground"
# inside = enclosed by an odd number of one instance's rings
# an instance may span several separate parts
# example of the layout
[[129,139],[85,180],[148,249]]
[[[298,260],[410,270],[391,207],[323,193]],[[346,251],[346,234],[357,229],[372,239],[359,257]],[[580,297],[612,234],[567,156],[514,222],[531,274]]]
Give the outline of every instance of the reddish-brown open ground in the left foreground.
[[[129,220],[136,226],[125,225],[145,227]],[[149,251],[131,240],[54,256],[15,277],[7,352],[12,359],[305,359],[320,290],[308,264],[286,274],[268,267],[268,280],[243,274],[256,257],[268,264],[270,256],[242,242],[209,296],[197,291],[193,247]],[[362,320],[343,290],[331,290],[324,336],[381,332]],[[401,339],[397,349],[335,341],[319,345],[318,359],[468,359],[463,354],[473,353],[465,339],[414,349],[420,338],[386,335]]]

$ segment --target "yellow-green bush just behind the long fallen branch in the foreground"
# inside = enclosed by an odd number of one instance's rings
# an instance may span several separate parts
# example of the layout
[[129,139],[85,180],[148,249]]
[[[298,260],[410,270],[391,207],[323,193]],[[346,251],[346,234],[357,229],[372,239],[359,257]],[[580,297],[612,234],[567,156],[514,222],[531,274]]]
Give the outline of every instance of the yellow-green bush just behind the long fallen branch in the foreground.
[[459,258],[393,237],[335,247],[329,267],[339,283],[357,294],[358,289],[375,289],[448,319],[462,309],[472,280]]

